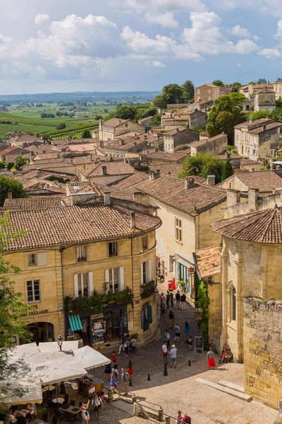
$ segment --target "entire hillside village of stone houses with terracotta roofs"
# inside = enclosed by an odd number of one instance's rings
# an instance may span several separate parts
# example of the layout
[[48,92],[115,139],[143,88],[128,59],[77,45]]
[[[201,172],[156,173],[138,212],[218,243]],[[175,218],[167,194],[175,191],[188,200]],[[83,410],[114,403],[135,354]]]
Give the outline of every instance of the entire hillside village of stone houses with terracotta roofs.
[[[245,364],[245,392],[278,408],[281,344],[275,328],[268,343],[259,322],[281,315],[282,121],[271,114],[281,89],[282,78],[236,93],[206,83],[193,102],[158,107],[158,125],[110,117],[85,139],[4,136],[0,177],[25,196],[9,190],[1,213],[26,231],[6,254],[21,269],[16,290],[36,308],[26,317],[34,341],[78,334],[97,348],[95,329],[111,322],[145,346],[160,336],[158,285],[180,290],[200,309],[204,348],[228,346]],[[213,110],[233,94],[245,120],[213,134]],[[206,160],[219,174],[204,172]]]

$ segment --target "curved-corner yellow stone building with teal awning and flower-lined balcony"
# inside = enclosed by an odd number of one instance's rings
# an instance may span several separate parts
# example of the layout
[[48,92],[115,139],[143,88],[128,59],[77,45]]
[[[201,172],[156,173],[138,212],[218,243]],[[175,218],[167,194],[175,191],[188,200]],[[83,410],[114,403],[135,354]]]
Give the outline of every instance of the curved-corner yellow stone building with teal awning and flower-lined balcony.
[[22,270],[11,277],[35,307],[28,328],[35,341],[82,336],[85,329],[86,343],[96,346],[111,323],[116,340],[129,330],[145,342],[157,331],[155,231],[161,220],[142,195],[121,204],[118,196],[94,187],[87,192],[85,185],[69,184],[59,206],[56,199],[17,199],[21,210],[8,213],[13,231],[26,230],[8,243],[6,259]]

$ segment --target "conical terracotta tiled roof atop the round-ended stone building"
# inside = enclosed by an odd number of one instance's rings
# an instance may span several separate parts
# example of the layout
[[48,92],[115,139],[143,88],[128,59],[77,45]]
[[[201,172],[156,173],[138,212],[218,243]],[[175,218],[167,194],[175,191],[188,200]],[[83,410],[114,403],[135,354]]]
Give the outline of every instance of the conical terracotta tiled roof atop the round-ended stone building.
[[282,208],[247,213],[212,224],[221,235],[247,242],[281,244]]

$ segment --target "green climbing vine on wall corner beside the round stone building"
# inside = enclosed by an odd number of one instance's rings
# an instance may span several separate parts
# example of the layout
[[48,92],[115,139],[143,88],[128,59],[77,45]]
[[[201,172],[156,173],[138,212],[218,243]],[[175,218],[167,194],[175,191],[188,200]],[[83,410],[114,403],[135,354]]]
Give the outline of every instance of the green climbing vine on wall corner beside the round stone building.
[[209,289],[207,281],[200,281],[195,276],[195,307],[202,310],[202,319],[200,320],[200,329],[204,341],[204,349],[209,348]]

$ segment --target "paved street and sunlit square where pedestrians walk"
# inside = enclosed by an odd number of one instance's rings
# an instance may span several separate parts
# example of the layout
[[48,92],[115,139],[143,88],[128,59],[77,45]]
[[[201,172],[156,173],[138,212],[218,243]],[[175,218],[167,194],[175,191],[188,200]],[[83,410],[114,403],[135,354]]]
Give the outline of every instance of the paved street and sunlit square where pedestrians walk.
[[[192,307],[187,304],[185,311],[176,310],[176,321],[180,325],[180,341],[177,344],[177,368],[168,368],[168,376],[164,377],[164,364],[161,354],[163,341],[162,334],[168,328],[168,317],[165,322],[159,323],[161,338],[154,341],[149,346],[137,349],[136,356],[125,358],[118,356],[118,370],[126,367],[130,358],[133,362],[133,391],[137,399],[144,399],[155,404],[153,408],[162,406],[164,412],[175,417],[178,409],[183,413],[188,412],[192,418],[192,424],[272,424],[276,419],[277,412],[271,408],[260,404],[257,401],[247,403],[231,395],[207,387],[195,382],[196,378],[207,379],[211,382],[218,382],[220,379],[227,380],[243,386],[243,365],[227,364],[221,365],[216,370],[207,369],[206,353],[194,353],[188,351],[188,346],[184,343],[183,324],[188,320],[190,324],[190,334],[192,337],[199,334],[197,322],[194,319]],[[173,331],[170,331],[171,338]],[[103,351],[104,353],[104,351]],[[104,353],[111,356],[111,351]],[[191,366],[188,366],[191,360]],[[216,358],[216,363],[218,359]],[[95,377],[104,379],[103,370],[93,370]],[[150,374],[151,381],[147,381]],[[106,386],[108,384],[106,383]],[[121,384],[118,385],[121,389]],[[141,424],[145,422],[140,418],[130,418],[123,411],[118,411],[114,406],[106,406],[103,414],[105,424]],[[174,424],[174,423],[173,423]]]

